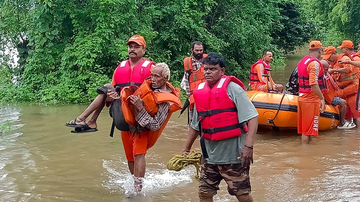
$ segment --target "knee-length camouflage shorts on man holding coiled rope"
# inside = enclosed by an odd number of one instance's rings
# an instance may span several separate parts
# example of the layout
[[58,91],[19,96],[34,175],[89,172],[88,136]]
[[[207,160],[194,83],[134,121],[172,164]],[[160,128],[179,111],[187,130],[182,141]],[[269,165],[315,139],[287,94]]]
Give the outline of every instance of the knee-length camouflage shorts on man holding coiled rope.
[[232,196],[251,193],[249,169],[241,164],[208,164],[201,165],[199,198],[212,198],[219,190],[221,180],[228,184],[228,192]]

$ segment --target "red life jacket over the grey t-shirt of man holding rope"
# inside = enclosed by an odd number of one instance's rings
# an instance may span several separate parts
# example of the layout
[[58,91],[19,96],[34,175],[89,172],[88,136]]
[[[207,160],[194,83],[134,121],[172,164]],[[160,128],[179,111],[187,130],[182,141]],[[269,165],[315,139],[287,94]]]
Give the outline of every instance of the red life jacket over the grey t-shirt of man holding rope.
[[226,91],[229,82],[244,89],[244,84],[233,76],[222,76],[210,88],[207,82],[199,84],[193,92],[199,114],[199,129],[204,139],[212,141],[241,136],[240,128],[247,132],[246,123],[239,123],[238,110]]

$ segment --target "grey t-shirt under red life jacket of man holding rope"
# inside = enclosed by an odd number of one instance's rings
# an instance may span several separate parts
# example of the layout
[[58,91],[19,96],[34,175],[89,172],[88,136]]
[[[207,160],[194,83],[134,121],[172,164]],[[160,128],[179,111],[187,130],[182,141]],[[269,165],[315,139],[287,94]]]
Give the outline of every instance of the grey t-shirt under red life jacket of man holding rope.
[[[254,105],[250,101],[244,89],[238,84],[230,82],[226,88],[231,100],[234,101],[236,108],[238,109],[239,123],[248,121],[255,118],[259,114],[257,113]],[[193,121],[190,124],[195,130],[199,130],[199,115],[196,112],[196,105],[194,107]],[[242,135],[239,137],[211,141],[205,139],[206,151],[209,155],[207,158],[208,164],[237,164],[240,163],[240,152],[242,151],[246,142],[247,133],[242,129]]]

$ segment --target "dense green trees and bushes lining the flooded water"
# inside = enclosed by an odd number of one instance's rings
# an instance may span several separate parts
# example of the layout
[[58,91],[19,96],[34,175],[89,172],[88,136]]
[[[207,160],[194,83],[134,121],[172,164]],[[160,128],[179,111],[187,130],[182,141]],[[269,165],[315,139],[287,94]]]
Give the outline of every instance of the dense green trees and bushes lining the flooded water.
[[264,49],[284,65],[281,55],[313,39],[359,42],[357,8],[359,0],[0,0],[0,50],[20,57],[11,68],[0,51],[0,100],[90,102],[134,34],[145,37],[146,58],[169,64],[175,86],[195,40],[226,57],[226,74],[248,79]]

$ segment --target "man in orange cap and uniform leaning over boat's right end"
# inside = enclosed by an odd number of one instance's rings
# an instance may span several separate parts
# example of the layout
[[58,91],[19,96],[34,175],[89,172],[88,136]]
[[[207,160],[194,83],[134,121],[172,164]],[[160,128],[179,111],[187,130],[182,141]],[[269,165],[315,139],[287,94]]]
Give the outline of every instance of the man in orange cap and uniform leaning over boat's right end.
[[[347,110],[351,111],[351,116],[354,119],[356,127],[360,127],[360,113],[356,110],[356,93],[359,85],[359,68],[351,64],[340,64],[339,60],[354,61],[347,53],[337,54],[335,47],[328,46],[324,51],[323,59],[329,60],[331,69],[329,73],[335,79],[338,91],[337,96],[346,100]],[[346,117],[345,117],[346,118]]]

